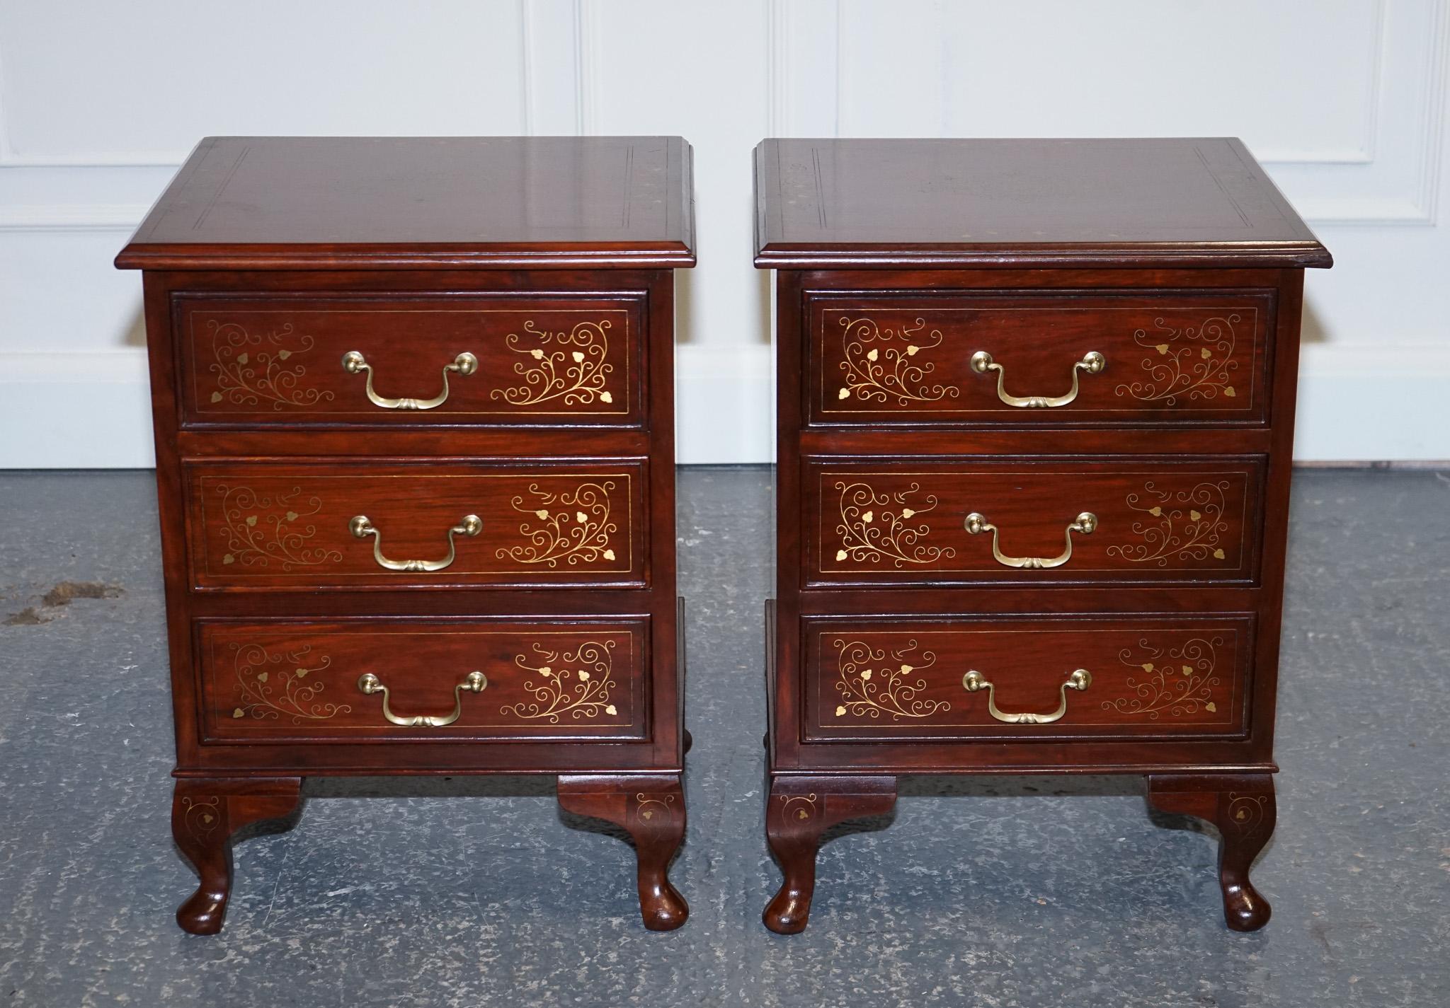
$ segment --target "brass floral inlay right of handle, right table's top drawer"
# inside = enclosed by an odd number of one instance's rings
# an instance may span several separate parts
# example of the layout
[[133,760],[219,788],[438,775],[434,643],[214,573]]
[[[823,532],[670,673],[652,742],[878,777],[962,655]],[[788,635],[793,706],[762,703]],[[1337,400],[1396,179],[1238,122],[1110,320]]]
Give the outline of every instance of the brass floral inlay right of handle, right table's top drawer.
[[1237,322],[1238,314],[1214,316],[1198,326],[1169,326],[1154,319],[1151,333],[1144,329],[1132,333],[1132,342],[1150,350],[1141,362],[1146,375],[1114,391],[1163,406],[1219,395],[1234,398],[1238,394],[1231,384],[1231,372],[1238,368],[1232,359]]

